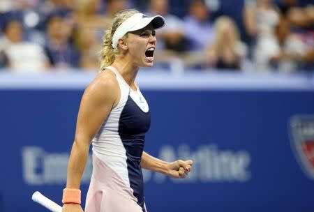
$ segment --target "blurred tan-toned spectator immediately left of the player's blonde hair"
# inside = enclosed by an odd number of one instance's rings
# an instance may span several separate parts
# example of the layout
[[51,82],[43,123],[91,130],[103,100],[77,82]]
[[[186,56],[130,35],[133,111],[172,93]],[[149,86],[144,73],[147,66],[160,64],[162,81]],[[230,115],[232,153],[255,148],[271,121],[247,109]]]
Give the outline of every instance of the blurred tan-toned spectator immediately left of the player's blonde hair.
[[99,70],[98,52],[100,52],[102,45],[97,38],[96,31],[82,27],[77,28],[74,34],[74,42],[80,54],[78,66],[83,70]]

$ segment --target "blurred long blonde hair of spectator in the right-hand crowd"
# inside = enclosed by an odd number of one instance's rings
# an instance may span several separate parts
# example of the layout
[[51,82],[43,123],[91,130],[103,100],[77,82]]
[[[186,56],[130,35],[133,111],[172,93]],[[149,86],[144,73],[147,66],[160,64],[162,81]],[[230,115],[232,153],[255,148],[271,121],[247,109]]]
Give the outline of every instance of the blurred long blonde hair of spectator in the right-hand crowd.
[[223,40],[223,29],[226,24],[229,24],[229,27],[233,28],[233,40],[232,40],[232,45],[235,45],[237,41],[239,41],[239,30],[237,29],[237,25],[234,23],[234,21],[228,17],[228,16],[221,16],[218,17],[218,19],[215,22],[215,40],[216,40],[216,45],[220,45],[221,43],[224,42]]

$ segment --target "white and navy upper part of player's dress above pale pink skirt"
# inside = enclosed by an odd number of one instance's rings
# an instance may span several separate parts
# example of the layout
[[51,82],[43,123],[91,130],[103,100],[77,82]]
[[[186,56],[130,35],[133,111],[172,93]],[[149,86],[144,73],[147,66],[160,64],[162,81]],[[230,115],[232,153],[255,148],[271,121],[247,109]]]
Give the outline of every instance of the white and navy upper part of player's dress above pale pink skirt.
[[116,75],[121,95],[119,103],[94,137],[92,150],[134,191],[141,205],[144,196],[140,160],[145,132],[150,126],[149,106],[137,86],[133,91],[115,68],[109,66],[105,69]]

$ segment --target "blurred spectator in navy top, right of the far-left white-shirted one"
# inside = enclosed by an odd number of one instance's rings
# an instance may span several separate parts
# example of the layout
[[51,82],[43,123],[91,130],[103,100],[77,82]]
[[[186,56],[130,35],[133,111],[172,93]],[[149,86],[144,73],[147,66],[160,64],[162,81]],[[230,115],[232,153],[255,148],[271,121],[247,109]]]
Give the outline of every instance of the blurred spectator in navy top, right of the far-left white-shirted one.
[[79,55],[69,42],[72,27],[59,13],[53,13],[47,18],[47,39],[45,51],[54,68],[77,67]]

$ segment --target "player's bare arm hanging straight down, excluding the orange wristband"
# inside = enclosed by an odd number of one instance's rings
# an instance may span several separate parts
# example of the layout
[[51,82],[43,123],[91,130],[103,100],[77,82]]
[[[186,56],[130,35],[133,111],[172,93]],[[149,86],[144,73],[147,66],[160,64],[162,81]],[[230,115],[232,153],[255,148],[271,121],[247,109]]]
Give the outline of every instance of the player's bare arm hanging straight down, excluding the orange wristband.
[[[77,126],[70,158],[66,188],[80,189],[80,181],[87,163],[89,145],[120,93],[113,73],[100,73],[87,87],[82,96],[77,115]],[[64,204],[63,211],[81,211],[79,204]]]

